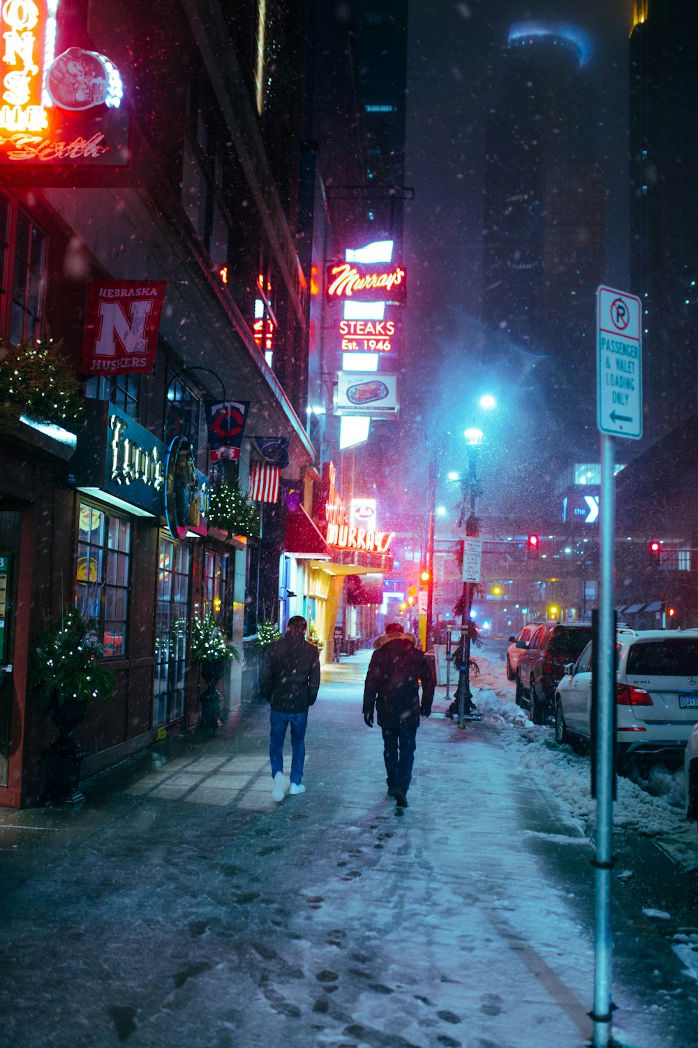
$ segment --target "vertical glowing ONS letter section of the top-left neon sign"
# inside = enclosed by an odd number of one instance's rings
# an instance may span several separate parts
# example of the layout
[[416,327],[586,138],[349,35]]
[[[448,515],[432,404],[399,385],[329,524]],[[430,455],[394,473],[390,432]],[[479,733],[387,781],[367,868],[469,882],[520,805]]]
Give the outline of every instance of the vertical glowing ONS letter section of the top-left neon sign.
[[0,8],[2,91],[0,128],[44,131],[48,127],[44,70],[53,60],[58,0],[4,0]]

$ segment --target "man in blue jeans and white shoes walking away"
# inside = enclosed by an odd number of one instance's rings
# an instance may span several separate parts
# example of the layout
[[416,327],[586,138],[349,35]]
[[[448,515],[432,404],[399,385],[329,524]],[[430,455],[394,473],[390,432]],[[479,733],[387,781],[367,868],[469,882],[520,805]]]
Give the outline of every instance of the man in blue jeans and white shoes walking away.
[[306,640],[308,623],[302,615],[289,619],[286,636],[269,645],[262,667],[262,694],[271,706],[269,714],[269,760],[274,801],[284,800],[284,740],[291,725],[291,786],[289,793],[305,793],[301,784],[306,761],[308,711],[320,686],[320,656],[315,645]]

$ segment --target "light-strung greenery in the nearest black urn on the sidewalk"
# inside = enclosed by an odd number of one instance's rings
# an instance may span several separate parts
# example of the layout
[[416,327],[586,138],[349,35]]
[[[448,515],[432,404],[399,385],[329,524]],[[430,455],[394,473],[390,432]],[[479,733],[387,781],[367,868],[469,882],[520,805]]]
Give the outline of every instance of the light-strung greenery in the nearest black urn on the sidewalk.
[[33,656],[31,690],[42,706],[99,698],[109,702],[114,678],[99,665],[105,648],[94,621],[78,608],[68,608],[42,634]]

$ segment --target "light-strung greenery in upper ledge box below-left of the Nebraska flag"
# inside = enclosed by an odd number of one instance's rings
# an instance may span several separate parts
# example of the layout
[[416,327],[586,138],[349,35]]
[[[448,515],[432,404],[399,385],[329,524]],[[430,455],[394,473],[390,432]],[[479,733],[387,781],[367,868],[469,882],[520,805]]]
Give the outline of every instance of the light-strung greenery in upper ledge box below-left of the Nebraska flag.
[[40,421],[70,428],[85,414],[83,388],[62,355],[61,342],[20,342],[0,339],[0,403],[19,405]]

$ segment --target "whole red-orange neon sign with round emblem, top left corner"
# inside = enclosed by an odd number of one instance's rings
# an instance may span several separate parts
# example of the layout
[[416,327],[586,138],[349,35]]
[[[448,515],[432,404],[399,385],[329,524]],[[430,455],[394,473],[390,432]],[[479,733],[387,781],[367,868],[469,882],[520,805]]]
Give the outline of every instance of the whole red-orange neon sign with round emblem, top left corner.
[[[123,94],[118,70],[80,47],[55,58],[57,14],[58,0],[0,5],[0,162],[126,166],[129,121],[113,112]],[[93,107],[100,111],[75,118]]]

